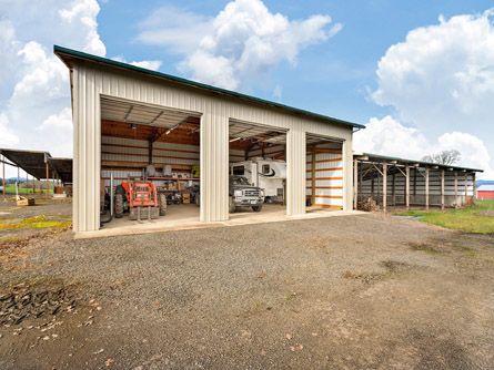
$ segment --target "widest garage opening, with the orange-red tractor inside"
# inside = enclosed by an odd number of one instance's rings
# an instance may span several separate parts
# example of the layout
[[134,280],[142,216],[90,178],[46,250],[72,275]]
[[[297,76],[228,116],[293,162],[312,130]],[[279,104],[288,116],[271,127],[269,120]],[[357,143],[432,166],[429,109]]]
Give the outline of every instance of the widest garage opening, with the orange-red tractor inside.
[[199,222],[200,115],[101,97],[101,226]]

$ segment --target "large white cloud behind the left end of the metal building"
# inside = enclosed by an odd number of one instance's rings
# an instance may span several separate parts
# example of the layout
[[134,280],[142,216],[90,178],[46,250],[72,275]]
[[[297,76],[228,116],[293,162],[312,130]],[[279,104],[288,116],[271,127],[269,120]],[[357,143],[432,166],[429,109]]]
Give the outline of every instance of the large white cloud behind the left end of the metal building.
[[[60,44],[104,56],[100,7],[95,0],[2,0],[0,7],[0,145],[72,156],[69,71],[51,50]],[[132,64],[155,70],[161,62]]]

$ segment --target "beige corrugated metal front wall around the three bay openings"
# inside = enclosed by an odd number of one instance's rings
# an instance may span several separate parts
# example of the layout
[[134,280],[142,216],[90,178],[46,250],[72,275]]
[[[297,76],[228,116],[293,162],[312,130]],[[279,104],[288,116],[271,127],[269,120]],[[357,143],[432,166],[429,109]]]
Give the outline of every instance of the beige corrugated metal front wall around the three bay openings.
[[110,71],[80,62],[73,68],[75,232],[99,228],[100,97],[137,101],[201,116],[201,219],[228,219],[229,119],[289,130],[288,214],[305,213],[305,133],[344,141],[344,208],[352,205],[352,127],[308,119],[139,73]]

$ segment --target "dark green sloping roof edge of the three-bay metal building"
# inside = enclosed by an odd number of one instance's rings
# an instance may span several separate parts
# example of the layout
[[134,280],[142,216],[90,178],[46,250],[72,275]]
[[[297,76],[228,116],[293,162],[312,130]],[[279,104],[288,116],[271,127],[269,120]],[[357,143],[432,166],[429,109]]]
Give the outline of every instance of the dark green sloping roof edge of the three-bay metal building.
[[238,93],[238,92],[234,92],[234,91],[231,91],[231,90],[215,88],[215,86],[212,86],[212,85],[209,85],[209,84],[205,84],[205,83],[200,83],[200,82],[195,82],[195,81],[178,78],[175,75],[161,73],[161,72],[157,72],[157,71],[151,71],[151,70],[148,70],[148,69],[144,69],[144,68],[141,68],[141,66],[118,62],[118,61],[114,61],[114,60],[111,60],[111,59],[108,59],[108,58],[102,58],[102,56],[98,56],[98,55],[93,55],[93,54],[88,54],[88,53],[84,53],[82,51],[78,51],[78,50],[73,50],[73,49],[68,49],[68,48],[63,48],[63,47],[59,47],[59,45],[53,45],[53,53],[57,54],[57,56],[59,56],[65,64],[67,64],[67,61],[64,59],[64,55],[69,55],[69,56],[75,58],[75,59],[82,59],[82,60],[87,60],[87,61],[104,64],[104,65],[108,65],[108,66],[120,68],[120,69],[124,69],[124,70],[128,70],[128,71],[139,72],[139,73],[147,74],[147,75],[150,75],[150,76],[164,79],[164,80],[172,81],[172,82],[175,82],[175,83],[180,83],[182,85],[186,85],[186,86],[190,86],[190,88],[206,90],[209,92],[213,92],[213,93],[216,93],[216,94],[222,94],[222,95],[228,95],[228,96],[241,99],[241,100],[244,100],[244,101],[249,101],[251,103],[258,103],[258,104],[263,104],[263,105],[268,105],[268,106],[275,107],[275,109],[281,109],[281,110],[284,110],[284,111],[288,111],[288,112],[291,112],[291,113],[305,115],[308,117],[322,120],[322,121],[326,121],[326,122],[334,123],[334,124],[342,124],[342,125],[346,125],[346,126],[352,126],[352,127],[355,127],[355,129],[359,129],[359,130],[365,127],[364,125],[359,124],[359,123],[353,123],[353,122],[347,122],[347,121],[334,119],[334,117],[331,117],[331,116],[327,116],[327,115],[323,115],[323,114],[319,114],[319,113],[301,110],[301,109],[298,109],[298,107],[293,107],[293,106],[290,106],[290,105],[272,102],[272,101],[269,101],[269,100],[264,100],[264,99],[260,99],[260,97],[255,97],[255,96]]

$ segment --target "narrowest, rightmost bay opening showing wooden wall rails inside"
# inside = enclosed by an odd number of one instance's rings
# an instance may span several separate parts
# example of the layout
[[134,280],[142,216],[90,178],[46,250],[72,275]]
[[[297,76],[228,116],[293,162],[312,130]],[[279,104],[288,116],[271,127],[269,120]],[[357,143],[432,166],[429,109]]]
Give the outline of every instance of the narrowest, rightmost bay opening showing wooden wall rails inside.
[[343,209],[343,142],[306,134],[308,212]]

